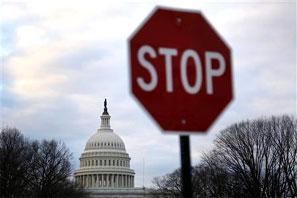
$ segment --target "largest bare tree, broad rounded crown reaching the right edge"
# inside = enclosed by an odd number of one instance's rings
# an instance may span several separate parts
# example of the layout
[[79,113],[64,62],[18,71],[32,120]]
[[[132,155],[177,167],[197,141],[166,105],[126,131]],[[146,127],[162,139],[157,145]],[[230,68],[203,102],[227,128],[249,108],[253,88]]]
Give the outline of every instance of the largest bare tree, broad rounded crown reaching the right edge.
[[289,116],[234,124],[216,139],[212,160],[224,164],[249,197],[294,197],[296,129],[296,120]]

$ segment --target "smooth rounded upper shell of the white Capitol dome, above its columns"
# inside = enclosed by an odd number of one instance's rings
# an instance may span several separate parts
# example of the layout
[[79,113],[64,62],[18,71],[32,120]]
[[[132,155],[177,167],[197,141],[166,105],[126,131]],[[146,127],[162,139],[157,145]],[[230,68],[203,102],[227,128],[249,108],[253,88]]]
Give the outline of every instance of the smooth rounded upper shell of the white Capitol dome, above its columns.
[[98,130],[87,141],[85,150],[125,150],[123,140],[112,130]]

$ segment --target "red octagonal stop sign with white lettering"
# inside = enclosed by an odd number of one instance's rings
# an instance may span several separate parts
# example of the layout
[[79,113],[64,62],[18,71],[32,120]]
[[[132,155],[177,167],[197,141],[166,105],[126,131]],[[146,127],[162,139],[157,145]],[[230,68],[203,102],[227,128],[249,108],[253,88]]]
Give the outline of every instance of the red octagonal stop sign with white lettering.
[[156,8],[128,45],[132,94],[164,131],[206,132],[232,100],[230,48],[201,13]]

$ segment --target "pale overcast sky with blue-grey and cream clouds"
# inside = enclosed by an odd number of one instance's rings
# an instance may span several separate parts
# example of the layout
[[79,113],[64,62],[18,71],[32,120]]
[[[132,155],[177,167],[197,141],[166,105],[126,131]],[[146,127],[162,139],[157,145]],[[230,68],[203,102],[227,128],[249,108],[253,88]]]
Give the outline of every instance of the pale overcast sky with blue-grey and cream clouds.
[[64,141],[78,168],[107,98],[137,186],[143,162],[145,186],[178,168],[178,136],[162,134],[129,94],[127,38],[156,5],[200,10],[232,47],[235,99],[207,135],[191,136],[193,165],[232,123],[296,115],[295,1],[2,0],[2,127]]

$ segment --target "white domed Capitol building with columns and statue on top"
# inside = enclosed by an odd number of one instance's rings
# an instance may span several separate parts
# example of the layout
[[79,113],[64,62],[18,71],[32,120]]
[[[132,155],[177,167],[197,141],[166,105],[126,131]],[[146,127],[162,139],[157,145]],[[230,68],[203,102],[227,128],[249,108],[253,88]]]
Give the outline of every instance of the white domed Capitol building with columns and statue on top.
[[135,188],[135,172],[123,140],[111,129],[107,101],[100,128],[86,143],[75,181],[91,197],[150,197],[144,188]]

